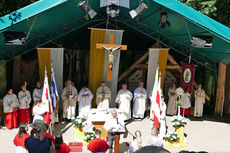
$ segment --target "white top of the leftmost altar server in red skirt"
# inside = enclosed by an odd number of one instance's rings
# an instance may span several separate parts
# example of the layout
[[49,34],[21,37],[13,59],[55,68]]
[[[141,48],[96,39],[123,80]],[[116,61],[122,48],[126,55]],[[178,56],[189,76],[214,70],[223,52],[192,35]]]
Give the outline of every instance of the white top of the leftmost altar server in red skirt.
[[12,113],[15,107],[19,107],[17,96],[15,94],[5,95],[3,98],[4,113]]

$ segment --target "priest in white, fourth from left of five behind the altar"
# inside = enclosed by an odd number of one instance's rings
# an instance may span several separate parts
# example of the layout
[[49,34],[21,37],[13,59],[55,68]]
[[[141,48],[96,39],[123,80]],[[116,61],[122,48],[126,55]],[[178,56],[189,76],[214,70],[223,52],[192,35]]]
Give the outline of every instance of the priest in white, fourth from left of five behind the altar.
[[124,120],[131,118],[130,102],[133,94],[127,89],[127,85],[123,84],[122,89],[119,90],[115,102],[119,105],[118,113],[122,114]]

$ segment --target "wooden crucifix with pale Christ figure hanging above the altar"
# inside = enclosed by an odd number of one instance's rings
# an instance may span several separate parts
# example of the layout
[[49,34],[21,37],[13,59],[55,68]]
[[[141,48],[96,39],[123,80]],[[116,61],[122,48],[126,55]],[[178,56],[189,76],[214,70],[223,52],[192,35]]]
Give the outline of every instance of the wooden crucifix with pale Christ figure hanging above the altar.
[[105,49],[109,51],[109,59],[108,59],[108,75],[107,80],[112,81],[112,69],[113,69],[113,55],[117,50],[127,50],[127,45],[116,45],[115,44],[115,35],[110,34],[109,36],[109,44],[96,44],[97,49]]

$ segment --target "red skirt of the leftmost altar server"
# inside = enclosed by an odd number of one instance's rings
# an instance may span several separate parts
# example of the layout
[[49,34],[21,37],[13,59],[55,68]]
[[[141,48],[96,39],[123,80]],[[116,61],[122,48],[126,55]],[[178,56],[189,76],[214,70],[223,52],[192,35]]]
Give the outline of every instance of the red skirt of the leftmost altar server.
[[11,113],[4,113],[4,114],[5,114],[6,127],[8,129],[13,129],[18,127],[17,108],[14,108],[13,112]]

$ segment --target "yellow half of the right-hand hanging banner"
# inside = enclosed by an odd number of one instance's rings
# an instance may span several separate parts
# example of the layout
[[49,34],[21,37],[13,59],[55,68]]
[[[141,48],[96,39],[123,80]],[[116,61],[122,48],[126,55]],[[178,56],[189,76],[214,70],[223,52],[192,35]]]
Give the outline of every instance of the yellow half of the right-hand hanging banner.
[[159,49],[158,63],[159,63],[159,73],[161,73],[161,89],[163,89],[164,78],[168,59],[168,48]]

